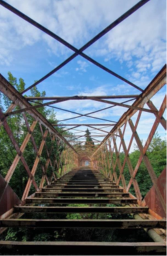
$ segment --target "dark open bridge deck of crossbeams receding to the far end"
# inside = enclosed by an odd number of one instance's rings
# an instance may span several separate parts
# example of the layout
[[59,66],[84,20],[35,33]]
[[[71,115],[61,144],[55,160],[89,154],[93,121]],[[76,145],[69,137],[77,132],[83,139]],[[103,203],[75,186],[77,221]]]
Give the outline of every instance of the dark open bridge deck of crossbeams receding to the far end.
[[[71,206],[71,204],[78,206]],[[83,203],[86,204],[85,207]],[[41,205],[42,204],[42,205]],[[114,204],[109,206],[108,204]],[[121,206],[120,206],[121,205]],[[23,219],[24,213],[112,213],[148,214],[147,207],[137,206],[137,199],[130,198],[122,188],[109,181],[100,172],[83,170],[69,172],[46,186],[24,206],[15,206],[14,213],[20,219],[9,217],[0,221],[1,228],[26,227],[40,229],[57,228],[107,228],[142,229],[167,227],[165,220],[150,219]],[[13,242],[1,241],[2,253],[43,253],[44,250],[60,254],[85,253],[87,255],[164,255],[166,246],[157,242]],[[105,250],[105,252],[104,252]]]

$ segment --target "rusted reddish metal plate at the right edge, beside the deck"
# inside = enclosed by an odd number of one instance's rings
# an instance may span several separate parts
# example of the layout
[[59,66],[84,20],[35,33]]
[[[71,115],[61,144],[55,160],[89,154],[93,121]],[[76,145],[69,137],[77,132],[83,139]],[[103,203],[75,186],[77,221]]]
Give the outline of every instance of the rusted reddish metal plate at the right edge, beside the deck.
[[151,210],[161,217],[167,218],[167,168],[164,168],[163,172],[157,179],[157,187],[163,197],[166,208],[163,208],[154,186],[152,186],[150,191],[146,194],[145,201]]

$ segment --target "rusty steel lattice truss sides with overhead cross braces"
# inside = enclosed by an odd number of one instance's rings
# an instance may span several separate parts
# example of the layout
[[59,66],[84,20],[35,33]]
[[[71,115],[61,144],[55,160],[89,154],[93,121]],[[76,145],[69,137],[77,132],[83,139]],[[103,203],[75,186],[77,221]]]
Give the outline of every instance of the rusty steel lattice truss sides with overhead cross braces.
[[[3,127],[5,132],[8,134],[10,141],[15,148],[16,155],[13,159],[13,162],[6,174],[6,177],[0,177],[0,184],[2,186],[2,190],[0,190],[0,215],[2,219],[9,217],[13,213],[13,206],[15,204],[26,203],[26,200],[30,199],[30,190],[31,187],[34,187],[36,193],[40,193],[44,188],[44,184],[50,186],[51,182],[57,181],[57,172],[55,170],[61,169],[60,176],[66,175],[70,170],[76,170],[78,166],[82,166],[83,162],[89,161],[91,163],[91,167],[99,170],[105,175],[105,177],[109,178],[110,181],[115,182],[116,186],[123,189],[123,192],[128,193],[132,200],[136,200],[136,205],[143,207],[149,206],[148,215],[150,220],[162,219],[167,217],[167,202],[166,202],[166,172],[164,169],[161,173],[160,177],[157,177],[154,172],[154,168],[152,167],[152,162],[146,155],[148,147],[154,137],[154,134],[159,125],[163,126],[164,130],[167,130],[167,120],[163,117],[165,110],[167,109],[167,95],[164,94],[164,99],[161,104],[161,108],[157,109],[157,107],[152,103],[152,97],[154,97],[161,88],[165,84],[167,84],[167,65],[161,69],[159,74],[155,76],[155,78],[148,84],[148,86],[143,90],[139,86],[134,83],[131,83],[121,75],[116,74],[109,68],[103,66],[98,63],[89,55],[85,54],[84,51],[89,48],[93,43],[98,41],[103,35],[107,34],[114,27],[118,26],[119,23],[123,22],[127,17],[136,12],[139,8],[142,8],[149,0],[142,0],[137,3],[137,5],[133,6],[128,10],[125,14],[121,15],[116,21],[111,23],[107,28],[101,31],[98,35],[92,38],[88,43],[86,43],[82,48],[77,49],[73,45],[67,43],[64,39],[58,37],[58,35],[54,34],[44,26],[40,25],[30,17],[22,14],[19,10],[16,10],[12,6],[8,5],[8,3],[4,1],[0,1],[0,5],[4,8],[8,9],[13,14],[18,15],[21,19],[24,19],[32,26],[39,28],[45,34],[48,34],[50,37],[55,39],[56,41],[64,44],[67,48],[72,50],[74,53],[68,57],[64,62],[55,67],[51,72],[44,75],[39,81],[28,86],[26,90],[22,93],[17,92],[13,86],[6,81],[3,75],[0,75],[0,92],[11,101],[11,105],[3,112],[0,110],[0,127]],[[72,97],[24,97],[23,95],[28,92],[31,88],[40,84],[42,81],[47,79],[49,76],[55,74],[60,68],[64,67],[67,63],[75,59],[76,56],[82,56],[87,61],[101,68],[104,72],[109,73],[110,75],[114,75],[121,81],[127,83],[128,85],[136,88],[139,91],[139,94],[136,95],[108,95],[108,96],[72,96]],[[34,104],[36,101],[45,101],[42,104]],[[91,113],[78,113],[72,112],[70,110],[65,110],[62,108],[58,108],[55,106],[57,103],[62,103],[64,101],[97,101],[100,103],[109,104],[107,108],[99,109]],[[120,102],[121,100],[121,102]],[[132,103],[133,102],[133,103]],[[69,121],[70,119],[60,120],[57,124],[51,124],[48,120],[38,111],[42,106],[48,106],[51,108],[55,108],[57,110],[62,110],[69,113],[76,114],[76,117],[70,118],[79,119],[80,117],[89,117],[91,119],[91,123],[82,124],[82,123],[71,123],[66,124],[63,123],[65,121]],[[92,117],[92,114],[98,113],[101,111],[109,110],[116,106],[120,106],[121,108],[125,108],[125,113],[119,118],[119,120],[111,121],[108,119],[102,119],[99,117]],[[139,134],[137,132],[137,127],[140,123],[140,118],[142,113],[149,113],[155,117],[154,124],[152,125],[152,129],[148,134],[148,139],[143,146]],[[20,146],[15,139],[15,135],[13,134],[10,128],[10,117],[12,115],[21,115],[22,122],[24,122],[25,127],[27,129],[26,136],[24,137],[24,141]],[[134,121],[134,116],[137,116],[136,121]],[[93,123],[94,119],[103,121],[103,123],[97,124]],[[106,123],[107,122],[107,123]],[[98,143],[98,146],[92,148],[92,146],[84,147],[85,134],[81,134],[83,130],[80,130],[80,126],[85,126],[90,129],[91,136],[94,143]],[[130,128],[130,141],[125,143],[125,133],[128,128]],[[64,135],[64,133],[59,133],[57,131],[57,127],[63,127],[64,132],[70,131],[73,132],[73,136]],[[39,128],[41,132],[41,141],[40,144],[37,145],[35,142],[35,129]],[[107,130],[106,130],[107,128]],[[110,132],[108,129],[110,128]],[[68,137],[69,136],[69,137]],[[136,142],[139,148],[139,159],[135,168],[132,166],[132,162],[130,161],[129,153],[132,148],[133,141]],[[31,142],[31,146],[35,152],[35,161],[33,162],[32,168],[28,165],[26,161],[26,156],[24,155],[24,150],[28,143]],[[48,142],[50,143],[48,146]],[[59,157],[57,159],[56,152],[54,152],[54,146],[65,146],[65,150],[60,152]],[[46,150],[48,158],[46,162],[43,164],[42,152]],[[121,151],[125,153],[125,158],[123,162],[120,160]],[[51,157],[52,154],[52,157]],[[8,185],[10,179],[12,179],[12,175],[17,168],[17,165],[21,162],[22,166],[24,166],[25,171],[28,175],[28,181],[24,192],[22,194],[22,199],[19,199],[17,195],[13,192],[12,188]],[[138,184],[136,176],[141,166],[141,163],[144,162],[146,169],[148,170],[150,179],[153,184],[152,192],[148,192],[146,197],[143,199],[140,190],[140,184]],[[128,172],[130,175],[130,179],[128,184],[125,181],[125,165],[128,166]],[[41,169],[41,180],[40,183],[37,184],[35,181],[35,173],[37,169]],[[52,172],[50,177],[48,177],[48,168],[51,168]],[[165,182],[163,186],[161,186],[161,181]],[[130,193],[130,189],[134,188],[135,195]],[[154,190],[154,191],[153,191]],[[162,192],[163,191],[163,192]],[[6,203],[6,195],[10,194],[10,198],[8,198],[8,203]],[[154,199],[153,199],[154,198]],[[152,200],[155,201],[155,204],[152,204]],[[133,204],[134,205],[134,204]],[[133,206],[131,204],[131,206]],[[141,214],[142,215],[142,214]],[[147,219],[148,215],[142,215],[143,219]],[[17,217],[19,216],[19,213]],[[19,217],[18,217],[19,218]],[[163,228],[166,228],[163,226]],[[1,229],[4,231],[4,228]],[[1,231],[0,230],[0,231]],[[164,232],[159,232],[160,235],[163,235]]]

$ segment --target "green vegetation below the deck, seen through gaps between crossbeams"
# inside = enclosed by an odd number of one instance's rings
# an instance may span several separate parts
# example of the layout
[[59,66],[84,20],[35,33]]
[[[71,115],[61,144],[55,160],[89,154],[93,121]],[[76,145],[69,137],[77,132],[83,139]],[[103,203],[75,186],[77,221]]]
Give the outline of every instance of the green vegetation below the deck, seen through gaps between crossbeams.
[[[87,207],[87,204],[70,204],[70,206]],[[97,207],[97,204],[92,205]],[[107,204],[107,206],[116,206]],[[117,205],[118,206],[118,205]],[[24,219],[132,219],[129,214],[109,213],[59,213],[59,214],[25,214]],[[26,229],[9,228],[3,233],[4,240],[10,241],[96,241],[96,242],[151,242],[144,230],[112,230],[99,228],[62,228],[62,229]]]

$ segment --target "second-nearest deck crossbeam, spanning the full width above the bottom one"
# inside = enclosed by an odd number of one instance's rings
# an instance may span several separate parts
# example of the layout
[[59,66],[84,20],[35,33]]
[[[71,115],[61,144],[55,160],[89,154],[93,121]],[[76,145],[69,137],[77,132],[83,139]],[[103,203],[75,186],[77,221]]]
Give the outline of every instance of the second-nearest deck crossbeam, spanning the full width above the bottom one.
[[136,219],[3,219],[1,228],[167,228],[166,220]]

